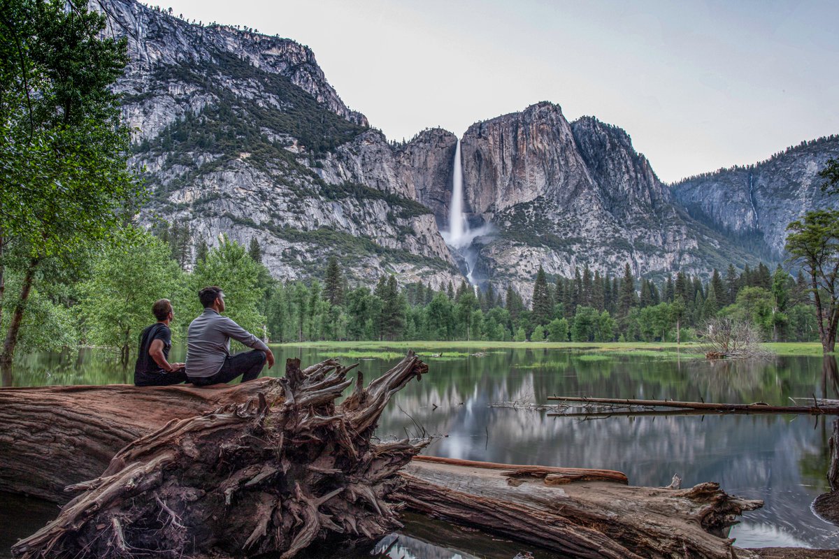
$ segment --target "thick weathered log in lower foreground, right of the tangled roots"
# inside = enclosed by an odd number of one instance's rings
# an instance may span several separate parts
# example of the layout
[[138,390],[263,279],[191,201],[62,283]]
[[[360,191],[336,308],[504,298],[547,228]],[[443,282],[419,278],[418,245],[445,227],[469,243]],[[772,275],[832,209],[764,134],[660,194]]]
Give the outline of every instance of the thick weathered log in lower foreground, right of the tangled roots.
[[[414,459],[395,495],[425,514],[476,525],[583,559],[732,557],[723,537],[761,501],[737,499],[718,484],[691,489],[628,487],[614,481],[546,483],[550,468]],[[608,479],[612,474],[597,479]],[[753,557],[737,550],[737,557]]]

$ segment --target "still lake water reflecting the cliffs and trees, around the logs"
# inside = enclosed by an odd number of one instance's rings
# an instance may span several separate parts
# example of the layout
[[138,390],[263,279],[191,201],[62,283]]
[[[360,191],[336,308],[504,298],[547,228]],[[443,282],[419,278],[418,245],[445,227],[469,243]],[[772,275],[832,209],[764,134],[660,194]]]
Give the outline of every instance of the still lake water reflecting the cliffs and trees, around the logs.
[[[839,397],[835,368],[821,357],[718,362],[673,353],[595,353],[580,349],[444,349],[425,354],[430,374],[397,394],[379,422],[378,437],[437,437],[435,456],[489,462],[607,468],[633,485],[663,486],[679,474],[683,487],[717,481],[730,494],[763,499],[763,509],[732,529],[737,546],[839,547],[839,529],[810,511],[828,490],[827,439],[832,418],[808,416],[670,416],[581,419],[534,409],[547,396],[603,396],[788,405],[790,397]],[[388,370],[400,349],[365,353],[283,346],[277,363],[328,358],[360,362],[365,379]],[[182,355],[173,355],[182,360]],[[269,371],[282,372],[281,365]],[[106,354],[31,355],[4,386],[131,382]],[[506,404],[505,404],[506,403]],[[510,405],[512,403],[512,405]],[[498,406],[498,404],[504,404]],[[2,427],[0,427],[2,428]],[[0,494],[0,556],[55,515],[55,505]],[[373,550],[317,551],[312,556],[512,559],[530,551],[515,542],[410,515],[406,528]]]

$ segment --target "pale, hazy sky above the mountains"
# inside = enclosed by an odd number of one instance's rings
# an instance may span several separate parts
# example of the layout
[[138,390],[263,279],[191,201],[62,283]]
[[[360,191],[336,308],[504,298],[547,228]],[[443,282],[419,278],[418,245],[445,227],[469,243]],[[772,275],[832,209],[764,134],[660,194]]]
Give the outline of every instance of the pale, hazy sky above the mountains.
[[168,0],[308,45],[391,140],[539,101],[622,127],[665,182],[839,133],[839,2]]

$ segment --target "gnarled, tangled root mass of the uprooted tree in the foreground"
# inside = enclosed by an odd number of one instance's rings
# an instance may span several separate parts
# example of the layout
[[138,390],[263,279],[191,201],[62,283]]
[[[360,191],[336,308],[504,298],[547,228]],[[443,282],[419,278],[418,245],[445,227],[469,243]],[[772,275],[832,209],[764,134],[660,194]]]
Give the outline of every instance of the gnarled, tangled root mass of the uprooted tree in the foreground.
[[[385,498],[428,443],[371,442],[390,396],[428,367],[409,354],[367,389],[334,361],[289,360],[281,391],[173,420],[122,448],[56,520],[13,546],[20,559],[292,557],[312,541],[373,539],[401,526]],[[273,385],[272,385],[273,386]]]

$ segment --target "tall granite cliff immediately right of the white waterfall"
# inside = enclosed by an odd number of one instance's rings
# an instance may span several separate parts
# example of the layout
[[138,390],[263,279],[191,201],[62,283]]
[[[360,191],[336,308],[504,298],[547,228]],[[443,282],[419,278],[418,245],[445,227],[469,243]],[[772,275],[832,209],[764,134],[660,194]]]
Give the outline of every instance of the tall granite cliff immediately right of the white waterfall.
[[597,119],[569,123],[539,103],[473,125],[462,151],[468,210],[498,229],[479,239],[493,284],[528,295],[539,264],[570,277],[585,263],[615,274],[628,262],[657,276],[751,261],[680,210],[626,132]]

